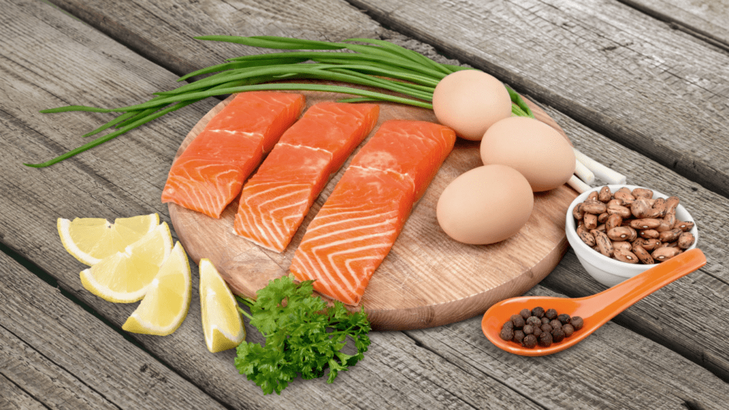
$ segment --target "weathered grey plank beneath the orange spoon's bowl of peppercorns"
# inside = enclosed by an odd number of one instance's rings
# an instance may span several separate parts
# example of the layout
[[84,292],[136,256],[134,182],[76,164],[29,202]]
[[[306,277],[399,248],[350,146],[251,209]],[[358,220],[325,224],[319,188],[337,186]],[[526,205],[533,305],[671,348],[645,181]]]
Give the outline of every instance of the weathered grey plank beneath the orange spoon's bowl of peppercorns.
[[[560,296],[541,286],[527,295]],[[728,384],[613,322],[580,344],[544,357],[515,357],[494,347],[477,330],[480,318],[476,317],[406,333],[417,344],[437,352],[438,360],[455,363],[467,373],[502,380],[545,409],[726,407]],[[545,368],[549,371],[544,372]],[[562,382],[565,379],[572,382]]]

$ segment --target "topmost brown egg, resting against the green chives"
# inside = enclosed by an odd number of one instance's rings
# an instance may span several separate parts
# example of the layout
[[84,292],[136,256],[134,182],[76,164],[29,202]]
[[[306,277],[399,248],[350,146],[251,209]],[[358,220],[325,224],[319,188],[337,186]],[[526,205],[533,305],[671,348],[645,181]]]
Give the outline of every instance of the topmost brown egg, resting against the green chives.
[[496,121],[510,117],[511,98],[496,77],[461,70],[448,74],[435,86],[433,112],[456,135],[477,141]]

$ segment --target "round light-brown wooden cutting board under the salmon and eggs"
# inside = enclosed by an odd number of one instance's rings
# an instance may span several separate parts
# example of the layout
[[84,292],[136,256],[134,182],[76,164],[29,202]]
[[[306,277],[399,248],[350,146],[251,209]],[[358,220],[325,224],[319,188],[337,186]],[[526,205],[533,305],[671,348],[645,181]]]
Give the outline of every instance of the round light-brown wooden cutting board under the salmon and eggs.
[[[346,98],[338,93],[301,93],[306,96],[307,108],[319,101]],[[177,156],[230,99],[211,109],[192,128]],[[429,109],[390,103],[380,103],[380,106],[378,125],[370,136],[386,120],[437,122]],[[553,125],[564,135],[545,112],[534,104],[530,107],[539,120]],[[483,314],[496,301],[521,295],[537,285],[561,260],[567,248],[565,213],[577,196],[567,185],[547,193],[535,193],[529,222],[505,241],[486,246],[461,244],[440,229],[435,217],[440,193],[460,174],[481,165],[478,143],[458,139],[362,297],[361,305],[375,330],[429,328]],[[210,259],[234,293],[254,297],[269,280],[289,274],[289,264],[308,223],[319,212],[347,166],[348,162],[332,177],[281,254],[235,234],[237,199],[227,206],[220,219],[169,204],[174,230],[195,263],[200,258]]]

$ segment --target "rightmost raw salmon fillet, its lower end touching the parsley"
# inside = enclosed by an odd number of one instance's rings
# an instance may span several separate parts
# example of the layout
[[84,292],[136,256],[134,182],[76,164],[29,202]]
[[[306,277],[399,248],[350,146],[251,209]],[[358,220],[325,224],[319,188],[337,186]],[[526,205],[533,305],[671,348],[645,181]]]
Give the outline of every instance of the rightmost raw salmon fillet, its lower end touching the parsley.
[[296,279],[316,279],[322,295],[359,303],[455,142],[443,125],[383,123],[308,225],[290,268]]

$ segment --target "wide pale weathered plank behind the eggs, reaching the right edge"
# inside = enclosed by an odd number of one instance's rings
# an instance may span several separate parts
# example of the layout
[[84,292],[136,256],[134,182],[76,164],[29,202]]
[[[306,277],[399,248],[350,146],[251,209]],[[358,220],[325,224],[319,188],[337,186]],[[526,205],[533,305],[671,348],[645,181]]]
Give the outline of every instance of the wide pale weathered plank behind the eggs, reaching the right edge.
[[722,50],[615,0],[351,4],[729,195]]

